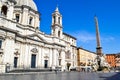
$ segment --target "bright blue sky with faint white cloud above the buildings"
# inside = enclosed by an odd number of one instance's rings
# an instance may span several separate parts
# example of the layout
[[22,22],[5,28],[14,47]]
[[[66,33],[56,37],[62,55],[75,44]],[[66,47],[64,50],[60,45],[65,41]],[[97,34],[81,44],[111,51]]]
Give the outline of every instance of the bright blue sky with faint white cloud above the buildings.
[[40,30],[51,33],[57,4],[63,31],[77,38],[77,46],[96,51],[94,15],[98,17],[103,53],[120,52],[120,0],[34,0],[41,13]]

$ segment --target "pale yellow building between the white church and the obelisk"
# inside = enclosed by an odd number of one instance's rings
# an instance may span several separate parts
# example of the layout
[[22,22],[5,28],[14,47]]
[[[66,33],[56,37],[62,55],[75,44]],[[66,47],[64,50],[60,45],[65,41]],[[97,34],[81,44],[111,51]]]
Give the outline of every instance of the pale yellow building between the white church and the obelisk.
[[77,48],[77,55],[77,64],[80,69],[91,67],[97,57],[96,53],[81,47]]

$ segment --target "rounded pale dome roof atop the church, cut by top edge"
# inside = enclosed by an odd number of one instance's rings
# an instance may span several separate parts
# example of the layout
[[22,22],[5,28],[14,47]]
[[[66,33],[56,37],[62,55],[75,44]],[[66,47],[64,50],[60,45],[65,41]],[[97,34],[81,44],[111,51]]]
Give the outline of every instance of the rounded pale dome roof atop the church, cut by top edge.
[[26,5],[37,11],[37,6],[33,0],[16,0],[18,6]]

